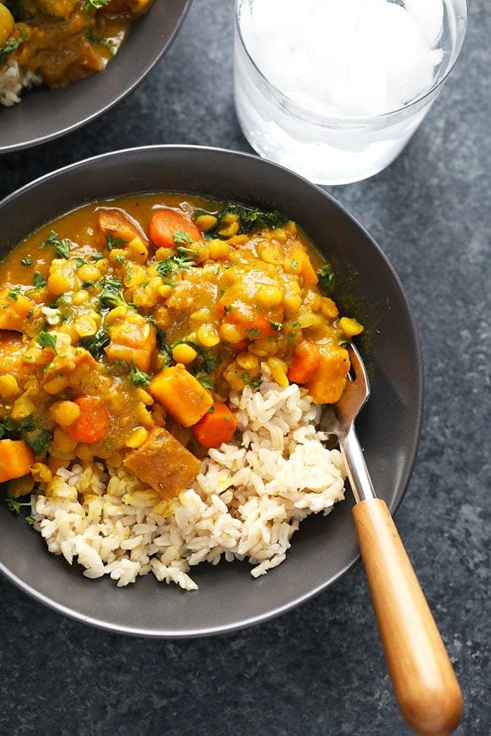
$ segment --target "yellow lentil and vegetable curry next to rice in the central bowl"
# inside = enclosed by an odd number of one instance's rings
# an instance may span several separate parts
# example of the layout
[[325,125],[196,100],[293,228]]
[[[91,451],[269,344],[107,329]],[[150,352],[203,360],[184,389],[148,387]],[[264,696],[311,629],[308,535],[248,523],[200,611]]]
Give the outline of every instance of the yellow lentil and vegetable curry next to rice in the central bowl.
[[96,457],[171,498],[233,436],[230,390],[264,371],[335,402],[362,328],[312,261],[279,213],[182,194],[85,205],[29,236],[0,263],[10,495]]

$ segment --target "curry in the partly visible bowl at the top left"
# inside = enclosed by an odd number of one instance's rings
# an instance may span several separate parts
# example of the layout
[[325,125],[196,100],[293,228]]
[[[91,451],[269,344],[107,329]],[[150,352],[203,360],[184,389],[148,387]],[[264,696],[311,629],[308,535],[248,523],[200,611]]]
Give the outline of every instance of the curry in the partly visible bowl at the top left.
[[153,0],[0,0],[0,68],[17,62],[50,88],[102,71]]

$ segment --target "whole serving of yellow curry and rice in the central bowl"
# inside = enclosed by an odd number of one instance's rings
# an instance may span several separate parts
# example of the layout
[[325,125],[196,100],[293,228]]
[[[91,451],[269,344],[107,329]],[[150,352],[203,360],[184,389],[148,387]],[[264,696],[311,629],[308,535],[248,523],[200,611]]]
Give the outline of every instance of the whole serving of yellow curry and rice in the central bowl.
[[0,264],[0,481],[49,551],[186,590],[199,562],[285,559],[344,494],[322,407],[361,325],[278,212],[96,202]]

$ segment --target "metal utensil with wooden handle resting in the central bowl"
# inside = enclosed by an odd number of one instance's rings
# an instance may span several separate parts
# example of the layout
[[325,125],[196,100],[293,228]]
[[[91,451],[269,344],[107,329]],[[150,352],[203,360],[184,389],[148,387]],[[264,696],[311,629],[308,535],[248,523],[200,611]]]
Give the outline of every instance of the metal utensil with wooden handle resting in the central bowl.
[[370,396],[367,371],[348,347],[349,381],[334,405],[339,447],[356,503],[358,544],[399,710],[420,736],[448,736],[459,724],[462,693],[437,624],[389,509],[377,498],[354,422]]

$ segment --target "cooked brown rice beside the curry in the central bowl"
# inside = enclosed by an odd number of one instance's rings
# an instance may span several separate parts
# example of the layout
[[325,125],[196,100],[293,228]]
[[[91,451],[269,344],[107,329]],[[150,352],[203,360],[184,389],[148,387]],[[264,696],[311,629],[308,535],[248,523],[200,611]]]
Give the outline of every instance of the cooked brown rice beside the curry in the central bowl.
[[123,468],[60,468],[32,500],[49,551],[119,586],[152,572],[195,590],[190,568],[222,556],[249,559],[254,577],[280,565],[300,521],[344,498],[342,457],[323,444],[321,407],[296,384],[278,386],[267,369],[258,389],[233,392],[230,402],[240,440],[209,450],[167,509]]

